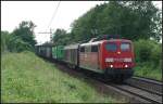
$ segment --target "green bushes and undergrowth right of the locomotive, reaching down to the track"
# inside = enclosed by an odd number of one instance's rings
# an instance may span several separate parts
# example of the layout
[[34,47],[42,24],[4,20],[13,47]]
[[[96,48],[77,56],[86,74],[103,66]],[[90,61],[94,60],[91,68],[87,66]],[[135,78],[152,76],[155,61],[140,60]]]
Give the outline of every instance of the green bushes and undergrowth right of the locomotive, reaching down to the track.
[[134,42],[136,63],[135,75],[162,79],[162,44],[153,40],[138,40]]

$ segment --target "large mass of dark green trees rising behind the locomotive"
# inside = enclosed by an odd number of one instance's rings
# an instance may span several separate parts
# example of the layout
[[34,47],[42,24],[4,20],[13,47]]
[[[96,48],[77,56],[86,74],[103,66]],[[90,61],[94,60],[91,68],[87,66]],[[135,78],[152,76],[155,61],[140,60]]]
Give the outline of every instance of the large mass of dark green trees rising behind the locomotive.
[[[92,8],[72,25],[74,41],[99,35],[130,40],[161,39],[161,12],[151,1],[110,1]],[[97,34],[91,31],[97,30]]]

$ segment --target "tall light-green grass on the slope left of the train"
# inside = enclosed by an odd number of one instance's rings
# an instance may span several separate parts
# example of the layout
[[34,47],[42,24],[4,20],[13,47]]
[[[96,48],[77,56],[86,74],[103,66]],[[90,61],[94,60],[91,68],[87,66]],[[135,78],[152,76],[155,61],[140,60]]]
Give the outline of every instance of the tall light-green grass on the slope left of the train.
[[1,58],[3,103],[115,103],[83,80],[60,72],[32,52],[8,53]]

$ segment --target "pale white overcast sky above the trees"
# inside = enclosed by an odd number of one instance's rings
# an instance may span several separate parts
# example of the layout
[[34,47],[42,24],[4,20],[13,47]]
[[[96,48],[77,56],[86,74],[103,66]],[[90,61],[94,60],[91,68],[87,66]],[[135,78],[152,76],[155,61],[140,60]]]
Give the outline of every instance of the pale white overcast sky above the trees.
[[[50,34],[39,32],[49,32],[50,28],[70,31],[75,20],[104,2],[108,1],[1,1],[1,30],[12,32],[22,21],[32,21],[37,26],[35,37],[40,44],[50,40]],[[162,1],[153,3],[162,9]]]

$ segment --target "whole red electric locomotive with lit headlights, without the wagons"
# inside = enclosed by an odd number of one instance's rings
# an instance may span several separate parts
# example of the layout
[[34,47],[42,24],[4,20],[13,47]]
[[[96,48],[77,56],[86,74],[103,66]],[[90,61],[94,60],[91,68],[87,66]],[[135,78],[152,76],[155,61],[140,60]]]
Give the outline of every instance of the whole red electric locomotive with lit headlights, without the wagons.
[[79,46],[79,67],[110,79],[123,81],[130,78],[135,66],[133,42],[126,39],[109,39]]

